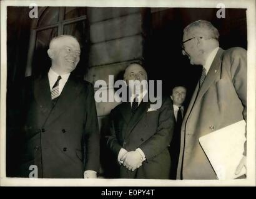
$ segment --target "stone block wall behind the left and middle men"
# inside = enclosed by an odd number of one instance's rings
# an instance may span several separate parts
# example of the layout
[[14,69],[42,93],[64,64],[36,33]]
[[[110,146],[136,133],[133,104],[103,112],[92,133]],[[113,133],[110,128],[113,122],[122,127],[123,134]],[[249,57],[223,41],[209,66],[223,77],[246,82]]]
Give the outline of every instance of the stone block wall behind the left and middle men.
[[[140,60],[143,56],[142,9],[139,7],[88,7],[87,16],[91,45],[86,80],[93,84],[97,80],[105,80],[107,87],[102,89],[113,90],[114,85],[109,85],[109,75],[114,75],[116,80],[129,62]],[[103,176],[108,175],[106,168],[109,164],[106,161],[111,159],[111,154],[107,154],[105,139],[109,133],[108,115],[117,104],[116,102],[96,102],[102,137],[101,175]]]

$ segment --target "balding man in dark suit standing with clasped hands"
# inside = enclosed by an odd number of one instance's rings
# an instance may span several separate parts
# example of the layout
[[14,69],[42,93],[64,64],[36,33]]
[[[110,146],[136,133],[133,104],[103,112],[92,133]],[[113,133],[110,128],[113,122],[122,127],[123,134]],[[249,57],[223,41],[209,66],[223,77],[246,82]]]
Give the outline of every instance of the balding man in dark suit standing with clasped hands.
[[170,98],[162,98],[159,109],[150,108],[150,102],[145,100],[147,90],[142,86],[147,73],[139,63],[128,65],[124,80],[131,96],[112,109],[111,136],[107,141],[120,164],[119,177],[168,179],[168,145],[174,129]]

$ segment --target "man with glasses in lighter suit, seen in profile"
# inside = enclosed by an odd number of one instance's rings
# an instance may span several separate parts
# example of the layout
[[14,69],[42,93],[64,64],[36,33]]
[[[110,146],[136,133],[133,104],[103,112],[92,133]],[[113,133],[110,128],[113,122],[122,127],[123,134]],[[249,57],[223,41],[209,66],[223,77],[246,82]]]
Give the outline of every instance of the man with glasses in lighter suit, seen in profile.
[[[199,137],[247,119],[247,51],[219,47],[219,31],[208,21],[184,29],[182,53],[191,64],[202,65],[181,128],[177,178],[216,179]],[[245,144],[246,146],[246,144]],[[236,174],[246,166],[246,149]]]

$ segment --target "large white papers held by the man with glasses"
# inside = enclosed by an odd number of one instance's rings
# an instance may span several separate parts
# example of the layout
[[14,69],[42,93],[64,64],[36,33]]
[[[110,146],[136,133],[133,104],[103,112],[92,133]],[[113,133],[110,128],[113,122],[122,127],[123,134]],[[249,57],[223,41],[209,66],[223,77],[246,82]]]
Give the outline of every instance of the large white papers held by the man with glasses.
[[245,174],[246,169],[243,168],[240,174],[235,175],[244,152],[244,120],[202,136],[199,142],[219,180],[234,179]]

